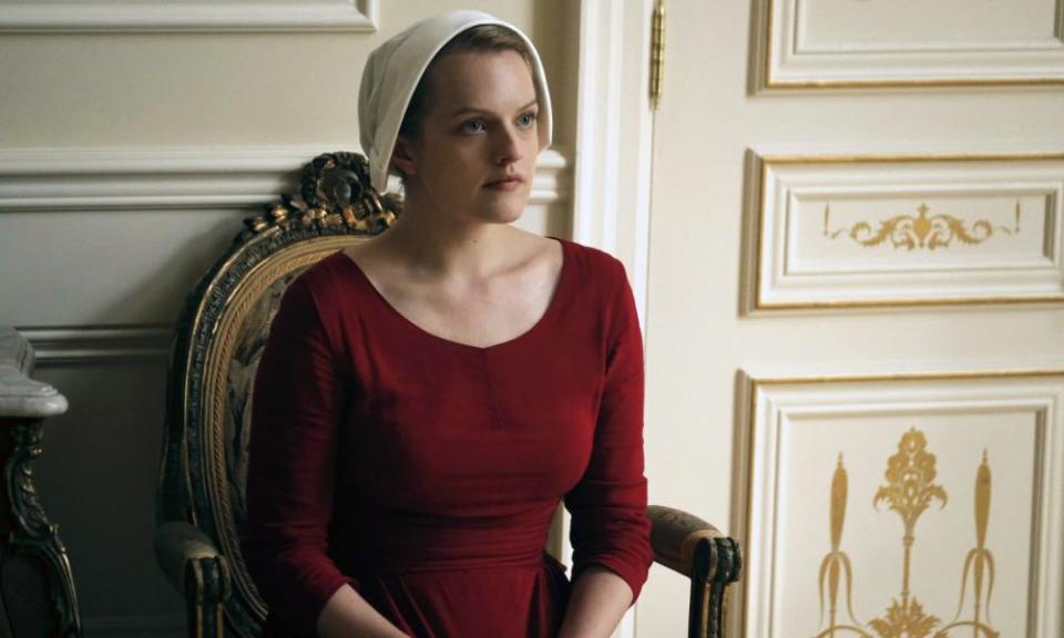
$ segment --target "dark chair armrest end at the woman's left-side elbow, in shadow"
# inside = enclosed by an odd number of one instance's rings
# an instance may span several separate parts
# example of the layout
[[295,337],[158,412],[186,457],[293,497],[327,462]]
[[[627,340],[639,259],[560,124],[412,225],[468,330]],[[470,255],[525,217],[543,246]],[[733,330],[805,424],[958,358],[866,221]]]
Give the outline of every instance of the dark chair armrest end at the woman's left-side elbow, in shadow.
[[184,521],[155,531],[155,560],[190,603],[221,604],[229,597],[229,565],[203,532]]

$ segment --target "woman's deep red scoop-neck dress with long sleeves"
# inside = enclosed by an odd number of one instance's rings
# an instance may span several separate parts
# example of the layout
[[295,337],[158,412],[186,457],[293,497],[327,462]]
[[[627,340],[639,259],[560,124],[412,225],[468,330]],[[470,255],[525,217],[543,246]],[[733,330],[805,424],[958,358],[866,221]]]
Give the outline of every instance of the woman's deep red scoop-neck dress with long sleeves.
[[603,565],[638,596],[653,554],[635,303],[620,261],[560,241],[546,312],[489,348],[418,328],[341,253],[289,286],[255,383],[243,544],[267,636],[314,636],[346,583],[411,636],[552,637],[561,498],[574,578]]

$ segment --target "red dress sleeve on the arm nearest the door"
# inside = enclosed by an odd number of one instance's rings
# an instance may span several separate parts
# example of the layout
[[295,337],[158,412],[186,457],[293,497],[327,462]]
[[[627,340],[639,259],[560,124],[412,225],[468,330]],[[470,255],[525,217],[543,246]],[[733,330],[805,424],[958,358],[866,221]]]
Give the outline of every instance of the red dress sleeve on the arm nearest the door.
[[654,560],[643,475],[643,339],[624,266],[610,258],[606,364],[591,461],[565,496],[572,514],[573,579],[591,564],[610,568],[638,598]]

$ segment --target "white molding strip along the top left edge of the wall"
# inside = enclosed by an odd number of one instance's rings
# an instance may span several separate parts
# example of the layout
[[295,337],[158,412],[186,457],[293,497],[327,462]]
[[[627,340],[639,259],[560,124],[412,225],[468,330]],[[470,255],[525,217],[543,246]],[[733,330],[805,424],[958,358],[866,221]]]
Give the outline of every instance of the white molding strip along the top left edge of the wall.
[[4,2],[2,32],[377,30],[378,0]]

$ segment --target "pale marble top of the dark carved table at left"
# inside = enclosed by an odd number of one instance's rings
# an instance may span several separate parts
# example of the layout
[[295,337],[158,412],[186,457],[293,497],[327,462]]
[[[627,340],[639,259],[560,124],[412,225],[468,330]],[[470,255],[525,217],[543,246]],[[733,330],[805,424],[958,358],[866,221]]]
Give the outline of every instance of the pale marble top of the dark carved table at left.
[[14,328],[0,326],[0,418],[43,419],[66,411],[66,398],[30,379],[33,348]]

